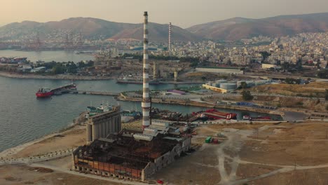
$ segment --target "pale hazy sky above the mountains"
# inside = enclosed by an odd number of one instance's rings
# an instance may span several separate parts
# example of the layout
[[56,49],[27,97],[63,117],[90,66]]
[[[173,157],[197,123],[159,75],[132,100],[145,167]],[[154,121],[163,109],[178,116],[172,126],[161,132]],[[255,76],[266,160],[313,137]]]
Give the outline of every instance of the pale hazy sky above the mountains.
[[151,22],[185,28],[233,17],[328,12],[328,0],[0,0],[0,7],[0,25],[71,17],[139,23],[148,11]]

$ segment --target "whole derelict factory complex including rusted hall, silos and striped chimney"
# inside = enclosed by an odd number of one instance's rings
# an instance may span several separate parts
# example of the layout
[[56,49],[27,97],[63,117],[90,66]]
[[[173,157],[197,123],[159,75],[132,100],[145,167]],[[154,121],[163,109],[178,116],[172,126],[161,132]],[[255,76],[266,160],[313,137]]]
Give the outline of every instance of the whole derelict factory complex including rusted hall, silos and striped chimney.
[[[179,124],[151,121],[149,97],[148,14],[144,13],[144,70],[142,129],[121,130],[120,108],[91,116],[87,144],[73,152],[73,169],[121,179],[145,181],[162,167],[189,151],[191,135],[180,132]],[[188,129],[188,125],[184,128]]]

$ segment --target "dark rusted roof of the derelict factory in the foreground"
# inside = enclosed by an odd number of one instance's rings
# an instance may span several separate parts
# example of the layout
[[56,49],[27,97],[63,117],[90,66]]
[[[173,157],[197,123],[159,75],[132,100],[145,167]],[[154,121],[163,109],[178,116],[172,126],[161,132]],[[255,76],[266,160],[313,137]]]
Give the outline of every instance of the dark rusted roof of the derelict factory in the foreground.
[[[128,132],[132,134],[134,131],[122,130],[116,135],[109,135],[106,139],[97,139],[89,146],[80,146],[74,151],[74,155],[78,158],[88,158],[88,160],[141,170],[149,162],[172,151],[183,140],[179,137],[178,139],[165,139],[168,135],[161,134],[153,137],[151,141],[136,140],[126,137]],[[173,137],[171,135],[170,138]]]

